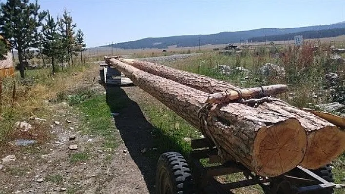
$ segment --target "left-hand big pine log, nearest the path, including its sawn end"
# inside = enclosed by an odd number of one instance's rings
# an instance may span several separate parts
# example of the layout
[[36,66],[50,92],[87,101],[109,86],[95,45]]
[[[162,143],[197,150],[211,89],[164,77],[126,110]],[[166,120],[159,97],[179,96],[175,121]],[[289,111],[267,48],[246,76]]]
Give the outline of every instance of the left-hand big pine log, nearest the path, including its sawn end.
[[257,175],[271,177],[293,169],[304,157],[307,136],[295,118],[238,103],[206,107],[206,92],[116,59],[109,63],[213,141],[223,161],[235,159]]

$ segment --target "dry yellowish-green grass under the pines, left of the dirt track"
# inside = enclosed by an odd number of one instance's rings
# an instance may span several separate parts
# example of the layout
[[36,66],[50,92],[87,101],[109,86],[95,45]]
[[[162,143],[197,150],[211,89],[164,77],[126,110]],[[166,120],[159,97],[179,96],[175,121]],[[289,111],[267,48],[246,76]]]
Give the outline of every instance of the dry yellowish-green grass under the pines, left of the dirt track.
[[82,79],[74,72],[85,71],[88,64],[76,64],[64,71],[52,75],[50,69],[27,70],[25,79],[16,72],[14,77],[3,78],[0,112],[0,144],[10,140],[14,123],[24,121],[31,116],[44,117],[53,111],[49,101],[57,97],[58,92],[71,88]]

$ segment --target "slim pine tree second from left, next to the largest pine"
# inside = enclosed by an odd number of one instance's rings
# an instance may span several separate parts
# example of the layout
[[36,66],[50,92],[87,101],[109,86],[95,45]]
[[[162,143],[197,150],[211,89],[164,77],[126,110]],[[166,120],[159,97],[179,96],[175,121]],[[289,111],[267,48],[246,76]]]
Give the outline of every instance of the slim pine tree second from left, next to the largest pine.
[[59,34],[57,31],[57,23],[54,18],[50,16],[49,11],[47,17],[45,18],[46,24],[42,27],[43,34],[43,49],[42,53],[52,59],[52,69],[53,74],[56,72],[55,60],[56,55],[59,51]]

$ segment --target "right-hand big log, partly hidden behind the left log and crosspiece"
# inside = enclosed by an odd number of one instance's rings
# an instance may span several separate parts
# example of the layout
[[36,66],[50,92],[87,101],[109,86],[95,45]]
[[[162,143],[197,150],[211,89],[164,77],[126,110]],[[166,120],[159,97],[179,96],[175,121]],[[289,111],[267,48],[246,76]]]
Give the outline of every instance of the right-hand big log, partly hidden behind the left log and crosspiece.
[[[121,58],[120,60],[140,70],[211,94],[241,89],[229,83],[211,79],[203,75],[179,71],[154,63]],[[308,146],[306,157],[301,163],[305,168],[317,169],[326,165],[345,151],[345,131],[339,129],[334,124],[311,113],[301,111],[294,106],[283,106],[283,104],[272,105],[272,103],[264,104],[267,106],[258,106],[258,110],[265,112],[273,108],[277,113],[285,112],[289,117],[293,116],[297,118],[305,128],[308,137]]]

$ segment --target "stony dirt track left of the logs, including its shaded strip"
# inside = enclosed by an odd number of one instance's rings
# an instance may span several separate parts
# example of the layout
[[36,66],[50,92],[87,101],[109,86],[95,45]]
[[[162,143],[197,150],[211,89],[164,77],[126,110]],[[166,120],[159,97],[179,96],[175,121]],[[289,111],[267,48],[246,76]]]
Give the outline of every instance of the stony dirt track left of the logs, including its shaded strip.
[[[105,149],[102,137],[83,133],[80,122],[83,115],[76,115],[72,107],[65,103],[52,105],[55,114],[42,118],[47,121],[23,119],[47,130],[53,137],[51,141],[25,148],[13,145],[0,153],[0,159],[8,155],[16,157],[9,163],[0,162],[0,194],[153,193],[155,161],[140,152],[152,148],[153,126],[135,102],[145,92],[137,87],[104,88],[93,83],[93,78],[99,77],[97,65],[78,76],[83,79],[76,83],[76,88],[87,86],[106,92],[111,109],[112,101],[116,101],[113,92],[126,98],[127,106],[115,117],[118,147]],[[72,144],[78,146],[77,150],[69,149]]]

